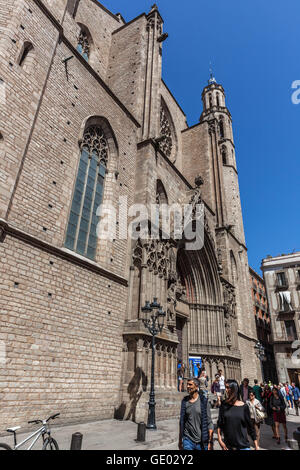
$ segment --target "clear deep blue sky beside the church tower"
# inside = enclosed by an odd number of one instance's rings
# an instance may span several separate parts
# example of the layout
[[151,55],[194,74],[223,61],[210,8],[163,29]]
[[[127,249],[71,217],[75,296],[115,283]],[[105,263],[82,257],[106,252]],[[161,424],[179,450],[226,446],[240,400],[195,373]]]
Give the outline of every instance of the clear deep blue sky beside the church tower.
[[[104,0],[126,21],[148,12],[151,1]],[[153,2],[154,3],[154,2]],[[163,78],[189,125],[202,111],[209,62],[226,92],[233,117],[249,264],[300,251],[299,0],[160,0],[169,38]]]

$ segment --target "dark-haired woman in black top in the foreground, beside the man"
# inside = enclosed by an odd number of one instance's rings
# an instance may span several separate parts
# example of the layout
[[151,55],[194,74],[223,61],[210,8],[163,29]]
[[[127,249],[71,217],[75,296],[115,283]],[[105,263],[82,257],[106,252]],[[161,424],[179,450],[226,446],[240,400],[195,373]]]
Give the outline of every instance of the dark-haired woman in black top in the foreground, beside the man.
[[255,450],[259,450],[249,407],[240,401],[238,383],[236,380],[227,380],[225,389],[227,399],[221,405],[218,419],[218,441],[220,446],[223,450],[250,450],[247,436],[247,433],[249,433],[254,442]]

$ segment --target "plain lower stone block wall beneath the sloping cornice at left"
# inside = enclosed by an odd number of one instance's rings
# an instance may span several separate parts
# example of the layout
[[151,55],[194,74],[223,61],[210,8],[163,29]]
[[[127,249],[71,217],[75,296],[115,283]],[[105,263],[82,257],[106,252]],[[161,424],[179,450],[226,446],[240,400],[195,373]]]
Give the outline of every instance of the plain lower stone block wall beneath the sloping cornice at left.
[[112,418],[126,287],[10,235],[0,259],[1,431],[56,412]]

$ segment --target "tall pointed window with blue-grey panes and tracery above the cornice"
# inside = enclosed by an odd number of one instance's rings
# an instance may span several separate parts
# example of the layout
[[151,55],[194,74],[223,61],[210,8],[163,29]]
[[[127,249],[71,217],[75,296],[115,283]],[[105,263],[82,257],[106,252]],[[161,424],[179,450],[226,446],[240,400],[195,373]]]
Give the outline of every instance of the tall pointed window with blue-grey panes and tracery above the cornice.
[[102,202],[108,159],[107,140],[100,126],[86,129],[65,246],[94,259],[97,246],[97,208]]

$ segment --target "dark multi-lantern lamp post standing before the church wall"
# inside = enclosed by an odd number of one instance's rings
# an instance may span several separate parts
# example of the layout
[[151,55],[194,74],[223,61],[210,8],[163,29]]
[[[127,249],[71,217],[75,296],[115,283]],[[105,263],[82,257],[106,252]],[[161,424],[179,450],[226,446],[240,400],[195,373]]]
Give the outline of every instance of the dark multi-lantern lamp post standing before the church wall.
[[157,429],[155,423],[155,392],[154,392],[154,365],[155,365],[155,336],[162,332],[164,327],[164,319],[166,312],[163,311],[161,305],[157,302],[157,298],[154,297],[153,302],[150,304],[146,301],[144,307],[142,307],[144,314],[142,320],[149,333],[152,335],[152,364],[151,364],[151,390],[149,395],[149,412],[147,429],[155,431]]

